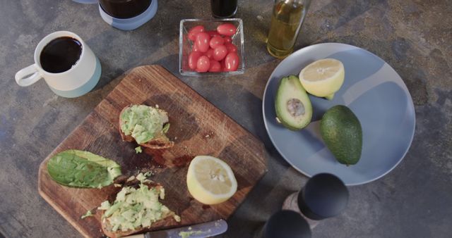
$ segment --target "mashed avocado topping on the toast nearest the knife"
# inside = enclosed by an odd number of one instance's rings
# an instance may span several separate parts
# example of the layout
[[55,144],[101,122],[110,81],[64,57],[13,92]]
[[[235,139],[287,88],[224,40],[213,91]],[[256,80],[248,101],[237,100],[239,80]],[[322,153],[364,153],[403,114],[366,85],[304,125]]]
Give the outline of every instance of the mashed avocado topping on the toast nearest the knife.
[[[150,227],[171,213],[169,208],[158,201],[159,198],[165,198],[165,190],[155,187],[150,189],[141,180],[140,187],[123,187],[112,204],[104,201],[97,209],[105,210],[102,219],[107,219],[112,231],[137,230]],[[174,215],[174,219],[180,221],[177,215]]]

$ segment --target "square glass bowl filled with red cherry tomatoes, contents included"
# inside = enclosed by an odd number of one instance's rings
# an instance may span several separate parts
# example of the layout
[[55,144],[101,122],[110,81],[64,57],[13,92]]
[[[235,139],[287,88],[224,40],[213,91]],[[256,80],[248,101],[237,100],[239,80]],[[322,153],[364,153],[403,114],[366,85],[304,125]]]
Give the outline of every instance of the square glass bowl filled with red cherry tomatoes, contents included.
[[181,75],[239,75],[244,71],[242,19],[181,20]]

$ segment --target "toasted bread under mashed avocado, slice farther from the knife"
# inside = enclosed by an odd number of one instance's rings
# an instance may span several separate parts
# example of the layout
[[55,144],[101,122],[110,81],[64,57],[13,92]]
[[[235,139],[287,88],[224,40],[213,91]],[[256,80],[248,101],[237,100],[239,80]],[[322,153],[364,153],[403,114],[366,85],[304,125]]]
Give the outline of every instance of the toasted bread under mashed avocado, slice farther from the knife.
[[[130,134],[126,135],[121,130],[121,124],[123,123],[123,121],[121,119],[121,115],[122,115],[122,113],[124,113],[126,108],[129,108],[131,106],[133,106],[133,104],[130,104],[129,106],[122,108],[121,113],[119,113],[119,134],[121,134],[121,138],[125,142],[134,142],[135,141],[135,138],[133,138]],[[157,109],[157,111],[159,111],[159,113],[162,113],[162,115],[164,115],[164,118],[165,118],[164,123],[168,123],[169,122],[168,113],[160,108],[156,108],[156,109]],[[166,134],[161,131],[161,132],[158,132],[157,134],[155,134],[154,138],[151,139],[149,142],[145,142],[145,143],[139,144],[139,145],[148,147],[150,149],[167,149],[167,148],[171,148],[172,146],[174,146],[174,142],[170,141],[169,138],[166,136]]]

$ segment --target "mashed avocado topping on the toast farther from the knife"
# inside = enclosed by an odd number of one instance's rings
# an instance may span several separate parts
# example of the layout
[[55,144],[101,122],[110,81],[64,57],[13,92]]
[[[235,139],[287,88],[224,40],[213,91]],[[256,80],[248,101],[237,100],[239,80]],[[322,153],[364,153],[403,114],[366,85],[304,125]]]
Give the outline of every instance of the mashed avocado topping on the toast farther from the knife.
[[[165,113],[145,105],[132,105],[121,113],[121,131],[131,135],[138,144],[149,142],[158,132],[167,132],[169,124]],[[165,129],[165,130],[164,130]]]

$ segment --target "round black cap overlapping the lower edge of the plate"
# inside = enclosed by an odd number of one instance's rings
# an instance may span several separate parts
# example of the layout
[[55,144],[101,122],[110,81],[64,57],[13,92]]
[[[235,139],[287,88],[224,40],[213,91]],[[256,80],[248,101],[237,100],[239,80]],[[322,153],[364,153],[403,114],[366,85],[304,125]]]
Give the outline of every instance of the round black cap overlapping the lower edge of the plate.
[[347,203],[347,187],[342,180],[329,173],[311,177],[298,194],[299,210],[312,220],[339,215]]

